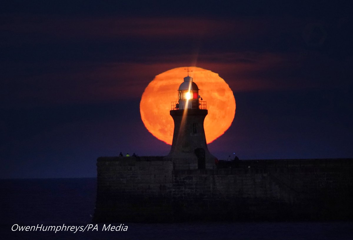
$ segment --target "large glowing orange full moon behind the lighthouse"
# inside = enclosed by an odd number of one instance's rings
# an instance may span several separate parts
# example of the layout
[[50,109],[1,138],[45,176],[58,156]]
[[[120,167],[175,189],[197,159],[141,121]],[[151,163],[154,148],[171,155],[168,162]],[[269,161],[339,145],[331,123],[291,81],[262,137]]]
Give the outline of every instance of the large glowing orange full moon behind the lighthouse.
[[[178,101],[179,85],[187,76],[187,67],[178,67],[158,74],[142,94],[140,113],[143,124],[153,136],[171,145],[174,122],[169,115],[171,102]],[[189,67],[189,76],[198,86],[199,95],[207,102],[204,121],[207,143],[213,142],[231,126],[235,114],[235,99],[228,84],[217,73],[199,67]]]

